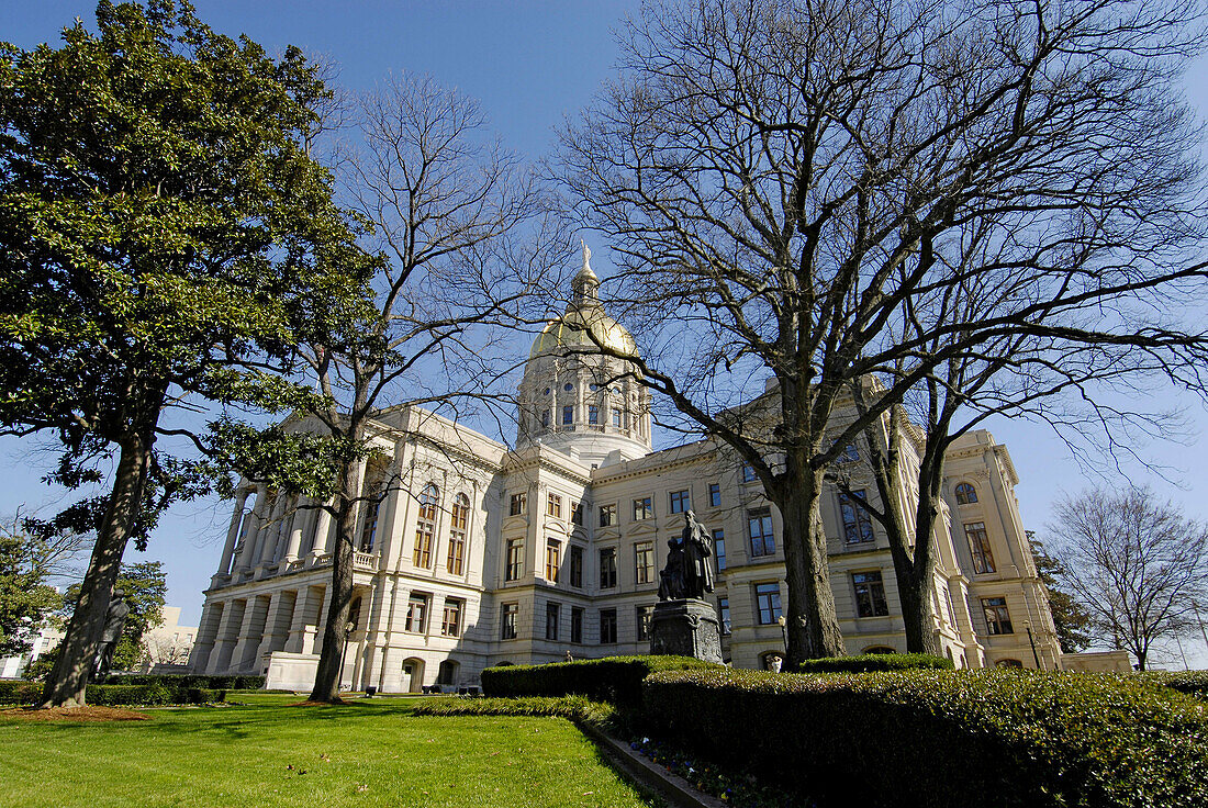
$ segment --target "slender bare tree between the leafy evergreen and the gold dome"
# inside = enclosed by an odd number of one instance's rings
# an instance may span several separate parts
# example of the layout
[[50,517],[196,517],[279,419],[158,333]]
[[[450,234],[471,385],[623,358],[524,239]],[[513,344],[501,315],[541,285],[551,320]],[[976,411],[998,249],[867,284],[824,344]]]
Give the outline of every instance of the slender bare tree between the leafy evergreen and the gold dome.
[[[487,135],[474,100],[430,79],[391,77],[361,99],[356,130],[347,185],[368,222],[366,248],[379,256],[376,310],[332,312],[342,342],[303,351],[329,402],[314,414],[341,447],[337,494],[323,506],[336,551],[310,694],[321,702],[338,701],[359,515],[400,486],[390,477],[366,484],[374,419],[402,401],[489,399],[490,360],[504,339],[493,326],[513,322],[564,257],[546,261],[559,242],[541,226],[538,185]],[[538,246],[517,246],[521,229]]]

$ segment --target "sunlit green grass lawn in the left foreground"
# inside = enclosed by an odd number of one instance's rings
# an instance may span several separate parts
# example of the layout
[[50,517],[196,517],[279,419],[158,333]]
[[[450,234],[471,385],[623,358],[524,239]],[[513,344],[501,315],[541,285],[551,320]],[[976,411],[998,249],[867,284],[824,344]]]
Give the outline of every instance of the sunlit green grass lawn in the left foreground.
[[[0,803],[22,808],[647,806],[565,719],[411,715],[417,699],[0,721]],[[329,756],[325,760],[323,756]]]

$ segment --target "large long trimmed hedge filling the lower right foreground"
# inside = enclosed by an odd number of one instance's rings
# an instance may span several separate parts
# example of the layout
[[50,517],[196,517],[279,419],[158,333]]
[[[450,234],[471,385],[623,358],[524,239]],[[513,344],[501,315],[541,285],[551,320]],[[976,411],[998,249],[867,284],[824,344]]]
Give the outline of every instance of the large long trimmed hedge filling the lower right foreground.
[[691,670],[643,691],[662,737],[824,803],[1208,804],[1203,705],[1128,675]]

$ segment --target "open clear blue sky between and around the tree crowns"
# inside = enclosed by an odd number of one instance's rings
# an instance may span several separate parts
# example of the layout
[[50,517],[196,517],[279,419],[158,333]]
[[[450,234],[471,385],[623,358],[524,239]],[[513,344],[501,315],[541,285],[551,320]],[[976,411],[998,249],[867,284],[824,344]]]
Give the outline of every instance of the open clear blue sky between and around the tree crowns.
[[[269,50],[298,45],[330,54],[342,66],[341,81],[353,89],[367,89],[390,71],[431,74],[477,98],[505,144],[538,157],[551,146],[563,116],[587,104],[610,75],[616,58],[612,29],[638,2],[196,0],[196,6],[202,19],[225,34],[248,34]],[[75,17],[89,23],[93,10],[83,0],[5,2],[0,39],[25,48],[57,42],[64,25]],[[1189,65],[1187,94],[1201,117],[1208,117],[1208,59]],[[592,245],[593,267],[606,274],[608,250],[593,244],[590,234],[585,238]],[[1189,515],[1208,518],[1204,406],[1168,390],[1146,390],[1144,401],[1184,412],[1194,435],[1139,448],[1145,459],[1168,467],[1167,476],[1178,487],[1131,460],[1121,461],[1123,472],[1136,482],[1152,482]],[[1111,460],[1079,466],[1046,426],[999,419],[988,428],[1011,452],[1021,477],[1016,494],[1024,522],[1041,536],[1051,502],[1062,492],[1122,482]],[[0,515],[23,504],[53,506],[56,495],[39,483],[50,457],[33,442],[0,440]],[[226,504],[180,506],[163,521],[146,553],[127,553],[128,560],[164,562],[168,600],[182,608],[186,623],[199,617],[201,593],[217,563],[228,516]],[[1203,641],[1184,647],[1194,663],[1208,665]],[[1174,664],[1181,667],[1181,659]]]

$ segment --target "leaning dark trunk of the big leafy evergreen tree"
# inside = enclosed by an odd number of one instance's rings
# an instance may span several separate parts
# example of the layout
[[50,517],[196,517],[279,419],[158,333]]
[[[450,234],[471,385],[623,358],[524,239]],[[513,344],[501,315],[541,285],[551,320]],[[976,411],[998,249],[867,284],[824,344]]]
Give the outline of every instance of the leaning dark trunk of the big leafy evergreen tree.
[[126,542],[143,501],[153,442],[153,428],[145,434],[132,431],[118,441],[121,455],[109,507],[97,530],[97,543],[80,585],[80,600],[59,645],[59,658],[42,690],[42,707],[85,704],[85,690],[105,627],[114,582],[121,571]]

